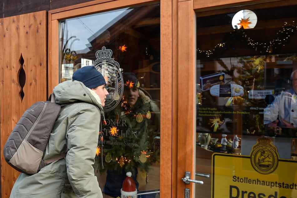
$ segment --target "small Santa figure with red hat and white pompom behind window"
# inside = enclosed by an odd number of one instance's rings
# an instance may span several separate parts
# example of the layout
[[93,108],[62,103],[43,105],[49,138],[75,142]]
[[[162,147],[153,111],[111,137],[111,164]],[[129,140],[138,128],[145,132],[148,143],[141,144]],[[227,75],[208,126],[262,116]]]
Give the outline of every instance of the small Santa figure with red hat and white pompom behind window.
[[131,197],[137,198],[137,189],[135,186],[135,181],[133,180],[132,173],[126,173],[126,179],[123,182],[123,186],[121,188],[121,198]]

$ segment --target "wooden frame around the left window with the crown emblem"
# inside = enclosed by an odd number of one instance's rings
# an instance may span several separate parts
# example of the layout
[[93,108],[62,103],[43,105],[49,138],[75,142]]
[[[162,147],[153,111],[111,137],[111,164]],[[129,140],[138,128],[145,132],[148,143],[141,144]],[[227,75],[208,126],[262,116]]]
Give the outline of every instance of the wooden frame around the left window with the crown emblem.
[[[59,20],[77,17],[86,14],[92,14],[98,11],[108,11],[141,5],[158,1],[151,0],[96,0],[82,3],[48,12],[48,95],[53,87],[58,84],[59,66],[58,66],[58,36]],[[176,28],[176,22],[173,20],[173,12],[177,12],[177,2],[171,0],[162,0],[161,4],[161,169],[160,169],[160,196],[176,197],[176,171],[177,171],[177,141],[176,120],[177,104],[176,93],[173,87],[177,87],[177,82],[173,83],[177,76],[176,63],[177,58],[177,34],[173,35],[173,27]],[[176,15],[175,15],[176,16]],[[177,17],[176,17],[177,18]],[[175,39],[173,40],[173,38]],[[173,100],[175,98],[175,100]],[[175,106],[175,108],[173,108]],[[173,116],[174,115],[174,116]],[[173,122],[173,120],[175,120]]]

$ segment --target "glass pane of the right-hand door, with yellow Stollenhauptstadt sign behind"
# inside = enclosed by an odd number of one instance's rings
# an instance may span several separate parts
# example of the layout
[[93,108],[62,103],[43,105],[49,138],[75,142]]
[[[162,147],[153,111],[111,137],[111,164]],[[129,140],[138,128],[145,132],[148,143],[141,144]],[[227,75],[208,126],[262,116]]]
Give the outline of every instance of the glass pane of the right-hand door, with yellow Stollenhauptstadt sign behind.
[[297,197],[296,10],[196,12],[195,197]]

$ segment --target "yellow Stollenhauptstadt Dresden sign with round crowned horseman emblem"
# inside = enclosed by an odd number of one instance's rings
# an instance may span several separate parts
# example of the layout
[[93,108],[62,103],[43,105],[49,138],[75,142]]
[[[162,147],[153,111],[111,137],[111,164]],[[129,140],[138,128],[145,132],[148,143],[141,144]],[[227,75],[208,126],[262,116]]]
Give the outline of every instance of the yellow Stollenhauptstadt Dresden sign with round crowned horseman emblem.
[[297,161],[279,159],[269,138],[250,156],[212,156],[212,198],[297,198]]

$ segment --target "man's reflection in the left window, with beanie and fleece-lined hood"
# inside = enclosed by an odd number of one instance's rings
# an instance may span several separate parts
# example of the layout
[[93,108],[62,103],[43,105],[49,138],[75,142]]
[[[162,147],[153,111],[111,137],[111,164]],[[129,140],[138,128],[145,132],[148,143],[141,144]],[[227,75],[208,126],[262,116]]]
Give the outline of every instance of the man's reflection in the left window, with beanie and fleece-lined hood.
[[[155,147],[157,133],[160,132],[160,109],[151,96],[139,87],[132,72],[123,73],[124,91],[121,103],[112,111],[106,112],[106,128],[103,153],[105,155],[106,184],[103,193],[111,197],[121,197],[122,183],[126,172],[136,180],[138,170],[146,175],[149,166],[158,161]],[[115,120],[113,123],[111,120]],[[112,144],[111,144],[112,142]],[[115,144],[116,142],[116,144]]]

